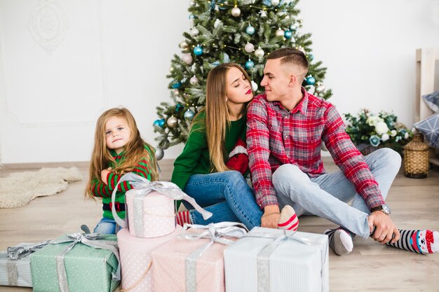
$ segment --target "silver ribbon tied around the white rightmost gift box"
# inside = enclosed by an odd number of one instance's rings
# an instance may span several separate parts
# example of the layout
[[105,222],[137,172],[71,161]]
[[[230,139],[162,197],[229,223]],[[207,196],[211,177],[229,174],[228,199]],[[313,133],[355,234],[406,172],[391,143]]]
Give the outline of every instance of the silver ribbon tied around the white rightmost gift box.
[[[287,241],[295,241],[299,242],[300,244],[306,244],[309,246],[316,246],[319,247],[318,244],[313,242],[311,239],[305,238],[305,237],[299,237],[295,236],[294,232],[288,232],[287,230],[283,230],[283,234],[276,235],[272,233],[262,233],[262,232],[255,232],[252,234],[245,235],[245,237],[257,237],[257,238],[267,238],[267,239],[273,239],[272,242],[269,242],[264,248],[259,251],[259,254],[257,255],[257,291],[258,292],[266,292],[270,291],[270,256],[273,251],[275,251],[279,245],[283,244]],[[319,249],[320,250],[320,249]],[[326,253],[327,253],[327,246],[324,250],[320,250],[322,258],[322,270],[320,270],[320,274],[322,276],[322,291],[323,291],[323,279],[325,277],[325,263],[326,263]]]

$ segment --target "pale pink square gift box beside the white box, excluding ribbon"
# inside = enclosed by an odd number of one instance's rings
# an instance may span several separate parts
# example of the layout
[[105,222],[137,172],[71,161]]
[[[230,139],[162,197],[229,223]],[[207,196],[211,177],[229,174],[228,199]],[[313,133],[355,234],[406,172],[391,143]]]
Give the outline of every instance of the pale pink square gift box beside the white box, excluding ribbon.
[[[152,253],[154,291],[180,292],[186,289],[186,258],[210,239],[175,238]],[[224,249],[214,243],[196,259],[196,291],[224,292]]]

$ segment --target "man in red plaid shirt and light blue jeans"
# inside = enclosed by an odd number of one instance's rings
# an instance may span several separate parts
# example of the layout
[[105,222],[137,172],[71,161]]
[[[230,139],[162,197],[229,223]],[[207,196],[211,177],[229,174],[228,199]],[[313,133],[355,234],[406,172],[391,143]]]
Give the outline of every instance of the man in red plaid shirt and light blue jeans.
[[[277,228],[279,206],[289,204],[297,216],[317,215],[341,226],[325,231],[340,256],[351,252],[355,235],[395,243],[400,233],[384,199],[400,155],[382,148],[363,158],[335,106],[302,87],[308,66],[300,50],[272,52],[261,82],[265,93],[248,109],[247,147],[256,200],[264,210],[261,225]],[[338,172],[325,173],[322,141]]]

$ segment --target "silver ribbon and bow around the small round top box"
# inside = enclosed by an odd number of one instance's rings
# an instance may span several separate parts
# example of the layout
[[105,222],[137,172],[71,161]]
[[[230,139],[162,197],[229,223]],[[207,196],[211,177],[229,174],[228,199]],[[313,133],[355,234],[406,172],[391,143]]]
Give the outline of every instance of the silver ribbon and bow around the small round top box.
[[[162,195],[166,195],[166,197],[170,197],[173,200],[185,200],[189,203],[191,203],[192,206],[201,213],[204,220],[207,220],[212,216],[212,213],[209,211],[206,211],[205,209],[201,208],[194,200],[194,198],[189,197],[186,193],[184,193],[175,183],[171,183],[169,181],[149,181],[145,179],[142,176],[139,176],[137,174],[133,174],[132,172],[129,172],[128,174],[124,174],[121,179],[119,179],[116,188],[114,188],[112,193],[112,205],[114,206],[114,202],[116,200],[116,191],[119,187],[119,184],[123,181],[129,181],[130,185],[133,186],[138,192],[134,196],[133,200],[133,212],[134,212],[134,229],[135,234],[142,235],[144,226],[143,226],[143,200],[144,197],[146,197],[149,193],[152,191],[156,191],[158,193],[161,193]],[[119,215],[116,212],[116,209],[112,207],[112,214],[114,217],[114,221],[119,224],[122,228],[128,228],[128,223],[121,219]],[[126,218],[128,218],[128,209],[126,210]]]

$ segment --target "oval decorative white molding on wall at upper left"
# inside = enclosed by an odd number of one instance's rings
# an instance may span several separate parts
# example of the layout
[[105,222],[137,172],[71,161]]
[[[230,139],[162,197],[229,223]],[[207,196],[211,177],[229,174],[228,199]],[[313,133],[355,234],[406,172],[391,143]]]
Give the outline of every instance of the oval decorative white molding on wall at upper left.
[[27,29],[36,43],[51,55],[67,34],[69,21],[64,8],[58,1],[39,0],[29,15]]

